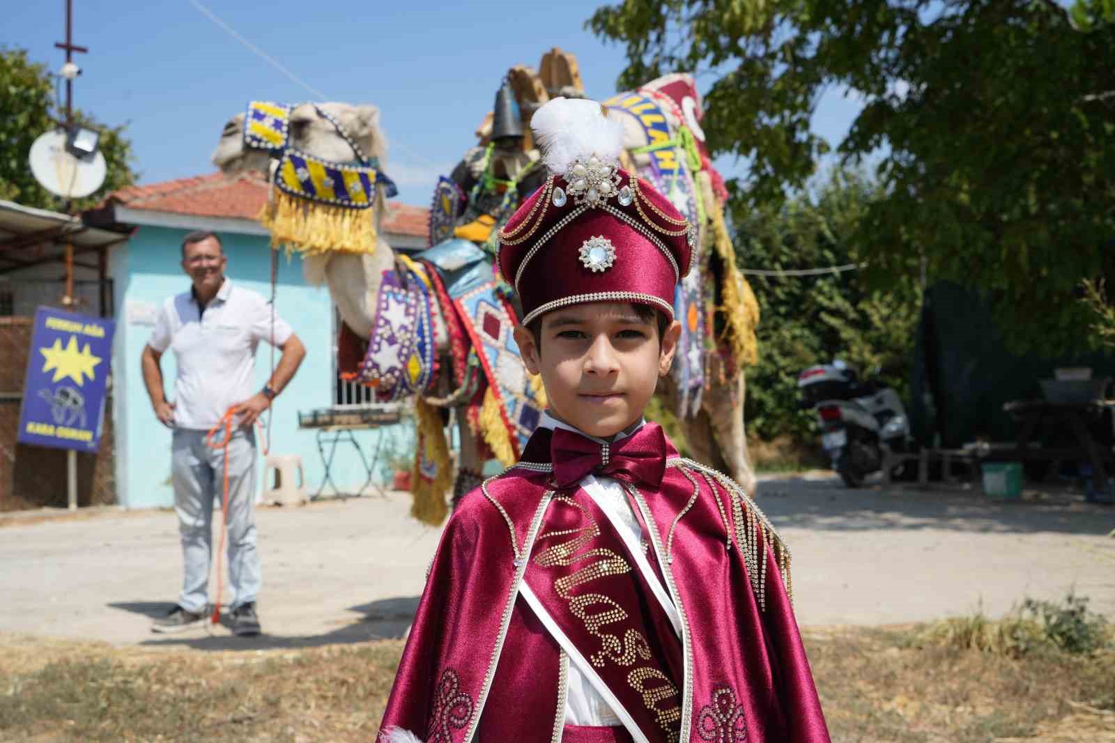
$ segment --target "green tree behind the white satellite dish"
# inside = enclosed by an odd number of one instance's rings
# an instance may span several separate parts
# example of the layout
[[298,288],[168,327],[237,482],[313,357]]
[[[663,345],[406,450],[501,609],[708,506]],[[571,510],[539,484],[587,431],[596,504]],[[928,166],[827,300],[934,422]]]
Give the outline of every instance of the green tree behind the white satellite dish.
[[[22,49],[0,49],[0,199],[40,209],[64,208],[60,199],[38,184],[27,162],[35,138],[65,119],[65,110],[54,105],[54,94],[45,65],[29,61]],[[104,126],[77,109],[74,119],[100,132],[100,152],[108,166],[105,183],[96,193],[74,200],[71,210],[76,212],[134,184],[137,174],[132,170],[132,143],[124,136],[124,126]]]

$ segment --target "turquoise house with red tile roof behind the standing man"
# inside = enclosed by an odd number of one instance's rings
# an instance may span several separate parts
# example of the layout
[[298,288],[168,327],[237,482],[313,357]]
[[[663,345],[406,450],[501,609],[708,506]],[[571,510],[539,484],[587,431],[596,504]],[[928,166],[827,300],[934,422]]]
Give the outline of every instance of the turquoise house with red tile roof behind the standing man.
[[[270,297],[269,238],[254,219],[266,200],[266,190],[268,185],[254,176],[229,180],[215,173],[119,191],[109,196],[97,214],[98,221],[133,230],[132,237],[114,247],[108,258],[117,320],[112,411],[116,436],[116,494],[117,502],[126,508],[168,506],[174,502],[169,483],[171,432],[152,412],[139,370],[139,355],[163,301],[190,287],[180,266],[182,239],[193,230],[216,232],[229,258],[227,276]],[[392,204],[384,231],[392,247],[403,250],[425,248],[427,211]],[[367,390],[338,379],[333,363],[333,303],[324,287],[306,282],[297,257],[288,260],[280,255],[275,308],[306,344],[307,357],[272,408],[270,452],[301,455],[306,488],[312,494],[321,485],[326,470],[319,451],[319,432],[301,428],[299,413],[340,405],[360,406],[368,395]],[[270,346],[261,344],[255,360],[260,388],[270,369]],[[173,354],[163,357],[163,374],[169,394],[175,375]],[[390,426],[353,431],[352,440],[369,464],[378,450],[374,475],[382,482],[390,476],[391,460],[413,451],[414,426],[404,417],[401,423]],[[326,442],[324,455],[328,454]],[[260,466],[262,470],[262,457]],[[336,491],[340,492],[353,492],[365,483],[365,465],[350,441],[338,443],[330,475]],[[270,484],[260,477],[261,489]],[[324,492],[336,491],[327,488]]]

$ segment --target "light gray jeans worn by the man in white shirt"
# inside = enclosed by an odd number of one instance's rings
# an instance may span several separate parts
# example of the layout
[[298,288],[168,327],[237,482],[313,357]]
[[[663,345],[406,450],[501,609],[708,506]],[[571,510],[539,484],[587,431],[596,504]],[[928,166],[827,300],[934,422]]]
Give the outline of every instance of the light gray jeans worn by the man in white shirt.
[[[171,466],[174,510],[182,537],[185,578],[178,605],[198,614],[209,604],[210,557],[213,551],[213,501],[221,508],[224,452],[205,443],[204,431],[174,432]],[[262,582],[255,551],[255,433],[239,430],[229,443],[229,583],[232,608],[254,601]],[[213,597],[214,601],[220,597]]]

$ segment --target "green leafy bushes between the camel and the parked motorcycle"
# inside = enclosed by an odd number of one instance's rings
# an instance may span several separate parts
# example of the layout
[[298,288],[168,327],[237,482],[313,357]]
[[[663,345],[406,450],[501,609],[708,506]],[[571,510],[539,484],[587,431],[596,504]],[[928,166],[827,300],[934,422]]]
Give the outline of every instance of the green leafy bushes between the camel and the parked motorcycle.
[[[863,249],[854,235],[880,197],[862,173],[835,171],[820,187],[777,208],[753,211],[736,202],[740,264],[783,271],[859,264]],[[861,375],[879,369],[880,379],[909,399],[919,280],[917,259],[885,288],[869,284],[856,270],[748,277],[763,317],[759,363],[747,369],[748,430],[764,440],[809,434],[815,414],[798,407],[797,373],[837,357]]]

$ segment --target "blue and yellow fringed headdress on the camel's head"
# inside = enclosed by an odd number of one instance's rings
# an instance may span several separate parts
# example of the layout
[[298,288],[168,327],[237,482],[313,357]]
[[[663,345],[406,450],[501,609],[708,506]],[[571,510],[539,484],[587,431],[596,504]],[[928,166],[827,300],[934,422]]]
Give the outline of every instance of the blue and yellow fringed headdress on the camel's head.
[[279,158],[275,192],[259,218],[271,232],[271,247],[308,253],[374,252],[377,189],[381,186],[390,197],[397,193],[395,183],[379,171],[379,160],[367,157],[340,123],[319,106],[314,110],[333,125],[356,160],[333,163],[292,146],[293,109],[287,104],[252,100],[244,118],[244,147],[264,149]]

